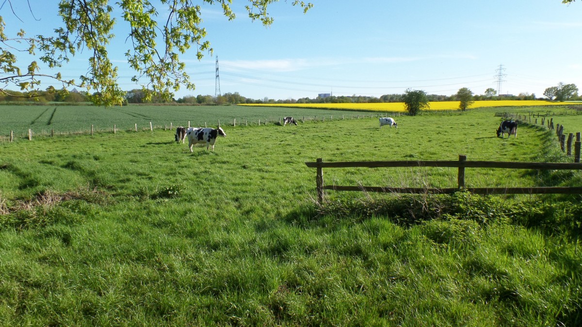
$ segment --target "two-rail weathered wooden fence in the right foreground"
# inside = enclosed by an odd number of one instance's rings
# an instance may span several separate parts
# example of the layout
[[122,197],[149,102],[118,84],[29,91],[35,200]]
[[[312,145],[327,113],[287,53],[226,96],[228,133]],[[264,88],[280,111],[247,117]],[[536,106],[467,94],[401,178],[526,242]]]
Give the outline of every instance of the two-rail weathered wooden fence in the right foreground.
[[[305,163],[310,168],[317,168],[315,184],[317,201],[324,201],[324,190],[335,191],[367,191],[384,193],[454,193],[461,189],[476,194],[582,194],[582,187],[465,187],[465,168],[505,168],[505,169],[552,169],[552,170],[582,170],[582,163],[554,162],[500,162],[500,161],[467,161],[465,155],[459,155],[459,161],[349,161],[324,162],[318,158],[316,162]],[[381,168],[381,167],[450,167],[458,168],[457,187],[425,188],[425,187],[377,187],[377,186],[338,186],[324,184],[324,168]]]

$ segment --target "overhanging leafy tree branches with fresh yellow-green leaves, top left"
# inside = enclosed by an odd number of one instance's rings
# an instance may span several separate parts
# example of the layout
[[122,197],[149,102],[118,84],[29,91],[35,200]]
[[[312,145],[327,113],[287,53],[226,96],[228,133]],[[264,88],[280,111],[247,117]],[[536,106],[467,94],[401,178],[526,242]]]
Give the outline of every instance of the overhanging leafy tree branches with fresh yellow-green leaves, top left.
[[[5,0],[4,5],[12,7],[13,1]],[[247,0],[245,6],[249,18],[260,20],[265,26],[273,23],[273,17],[267,12],[271,3],[279,0]],[[48,3],[48,2],[47,2]],[[62,25],[55,26],[53,35],[35,35],[29,37],[20,30],[15,37],[5,35],[5,21],[0,16],[0,92],[5,92],[9,85],[27,91],[30,97],[40,90],[41,78],[48,77],[59,81],[63,87],[77,86],[86,88],[93,95],[90,100],[99,105],[121,104],[125,92],[118,84],[118,67],[109,59],[109,42],[115,37],[113,27],[118,23],[112,17],[113,6],[122,11],[122,20],[129,31],[127,40],[130,48],[125,52],[127,62],[136,71],[133,81],[142,83],[144,99],[157,94],[164,100],[173,97],[173,92],[181,87],[194,90],[194,83],[186,73],[186,65],[180,55],[191,48],[196,51],[198,59],[205,53],[212,54],[207,32],[201,26],[201,6],[220,6],[222,14],[228,19],[236,18],[230,8],[232,0],[159,0],[153,4],[150,0],[61,0],[58,13]],[[47,4],[49,5],[49,4]],[[313,5],[294,0],[293,6],[299,6],[307,12]],[[30,7],[30,3],[29,3]],[[23,22],[26,26],[26,23]],[[61,67],[80,51],[90,53],[87,72],[79,80],[63,80],[60,73],[50,75],[39,72],[38,62],[50,68]],[[21,67],[17,63],[17,54],[25,51],[36,56],[37,60]],[[47,91],[56,92],[49,87]]]

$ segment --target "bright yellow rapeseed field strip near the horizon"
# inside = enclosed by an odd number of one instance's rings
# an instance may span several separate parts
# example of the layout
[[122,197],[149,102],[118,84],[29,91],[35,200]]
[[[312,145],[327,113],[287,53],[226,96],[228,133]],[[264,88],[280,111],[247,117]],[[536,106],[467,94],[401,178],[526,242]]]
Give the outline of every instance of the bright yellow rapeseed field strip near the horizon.
[[[499,100],[499,101],[475,101],[469,108],[482,108],[494,106],[548,106],[568,105],[569,102],[551,102],[537,100]],[[248,106],[286,106],[293,108],[335,109],[353,111],[381,111],[381,112],[405,112],[403,102],[384,102],[376,104],[240,104]],[[457,110],[459,101],[430,102],[429,110]]]

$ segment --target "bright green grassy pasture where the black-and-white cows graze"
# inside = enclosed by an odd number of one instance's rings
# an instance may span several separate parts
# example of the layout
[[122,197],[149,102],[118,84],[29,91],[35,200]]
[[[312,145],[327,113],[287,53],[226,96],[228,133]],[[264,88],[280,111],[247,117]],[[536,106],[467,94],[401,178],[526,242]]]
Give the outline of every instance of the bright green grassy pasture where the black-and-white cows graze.
[[[369,117],[225,125],[214,151],[164,129],[0,143],[0,321],[579,325],[580,196],[328,191],[314,202],[304,162],[317,158],[572,161],[542,126],[496,137],[496,111],[399,116],[398,129]],[[370,186],[455,187],[456,174],[324,169],[326,184]],[[466,171],[467,187],[581,180]]]

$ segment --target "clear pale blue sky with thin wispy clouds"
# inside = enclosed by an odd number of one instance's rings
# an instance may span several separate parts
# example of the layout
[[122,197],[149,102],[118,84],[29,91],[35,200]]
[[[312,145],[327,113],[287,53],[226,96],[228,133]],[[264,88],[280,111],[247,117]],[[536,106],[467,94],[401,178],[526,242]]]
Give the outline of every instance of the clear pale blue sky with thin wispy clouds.
[[[57,0],[29,2],[32,10],[24,0],[12,0],[12,8],[0,0],[6,34],[24,29],[47,36],[62,26]],[[270,27],[251,22],[244,9],[249,1],[233,2],[232,21],[219,6],[201,4],[214,52],[200,61],[195,51],[181,56],[196,90],[182,88],[175,98],[214,96],[217,58],[220,93],[253,99],[380,97],[408,88],[452,95],[462,87],[543,97],[560,82],[582,90],[582,0],[310,0],[314,6],[305,14],[282,0],[269,7]],[[119,65],[119,84],[140,88],[130,81],[136,73],[124,55],[127,26],[120,10],[113,16],[119,19],[108,53]],[[84,51],[58,71],[79,80],[87,56]],[[19,54],[19,60],[26,67],[32,59]]]

